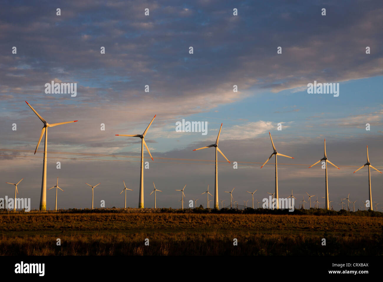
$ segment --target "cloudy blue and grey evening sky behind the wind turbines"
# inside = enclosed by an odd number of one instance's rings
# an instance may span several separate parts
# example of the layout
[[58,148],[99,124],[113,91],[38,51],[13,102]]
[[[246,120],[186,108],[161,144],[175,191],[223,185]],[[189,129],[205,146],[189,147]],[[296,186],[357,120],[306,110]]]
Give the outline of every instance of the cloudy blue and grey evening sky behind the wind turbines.
[[[383,172],[383,2],[372,1],[2,1],[0,9],[0,198],[31,198],[39,207],[43,123],[79,120],[48,130],[47,188],[59,177],[58,208],[123,207],[123,180],[139,197],[140,140],[145,140],[144,204],[153,182],[157,206],[179,208],[206,191],[214,195],[213,144],[219,148],[219,199],[243,201],[278,191],[323,206],[326,139],[329,198],[334,209],[350,193],[355,208],[368,199],[367,161]],[[57,15],[57,8],[61,15]],[[145,15],[145,9],[149,15]],[[233,9],[237,15],[233,15]],[[322,15],[322,8],[326,15]],[[370,54],[366,54],[366,47]],[[16,47],[16,54],[12,53]],[[105,54],[101,54],[105,47]],[[193,54],[190,54],[193,47]],[[278,47],[282,53],[278,54]],[[77,83],[77,95],[46,94],[45,84]],[[308,84],[339,83],[339,96],[309,94]],[[145,92],[145,86],[149,92]],[[233,91],[236,85],[238,91]],[[177,132],[176,122],[207,123],[207,134]],[[13,130],[16,124],[16,130]],[[101,130],[105,124],[105,130]],[[278,124],[282,130],[278,130]],[[370,124],[370,130],[366,130]],[[51,153],[51,152],[62,152]],[[101,156],[100,156],[101,155]],[[127,157],[115,157],[115,156]],[[57,162],[61,168],[57,169]],[[237,162],[237,169],[233,167]],[[383,206],[383,175],[372,170],[372,198]],[[210,198],[213,200],[213,197]],[[345,202],[345,201],[344,201]],[[256,201],[255,201],[256,203]],[[54,189],[47,208],[54,208]],[[219,201],[221,206],[221,201]],[[307,204],[305,204],[307,207]],[[362,209],[363,209],[362,208]],[[374,207],[375,209],[375,207]]]

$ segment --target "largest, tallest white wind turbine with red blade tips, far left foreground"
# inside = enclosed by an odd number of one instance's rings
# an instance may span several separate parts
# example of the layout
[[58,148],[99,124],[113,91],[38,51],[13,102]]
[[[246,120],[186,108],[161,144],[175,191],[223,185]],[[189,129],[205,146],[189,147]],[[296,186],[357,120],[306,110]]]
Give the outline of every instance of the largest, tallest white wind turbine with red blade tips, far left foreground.
[[[25,101],[27,104],[28,102]],[[78,120],[72,120],[67,122],[59,122],[57,124],[49,124],[46,122],[45,119],[41,117],[41,115],[36,112],[36,110],[33,109],[31,105],[28,104],[28,106],[33,110],[33,112],[39,117],[39,119],[44,123],[44,127],[41,130],[39,142],[37,143],[36,150],[34,150],[34,153],[36,154],[37,149],[39,148],[41,139],[43,138],[43,135],[45,133],[45,142],[44,142],[44,160],[43,160],[43,180],[41,181],[41,196],[40,196],[40,210],[46,211],[47,208],[47,144],[48,144],[48,127],[54,127],[56,125],[61,124],[69,124],[71,122],[77,122]]]

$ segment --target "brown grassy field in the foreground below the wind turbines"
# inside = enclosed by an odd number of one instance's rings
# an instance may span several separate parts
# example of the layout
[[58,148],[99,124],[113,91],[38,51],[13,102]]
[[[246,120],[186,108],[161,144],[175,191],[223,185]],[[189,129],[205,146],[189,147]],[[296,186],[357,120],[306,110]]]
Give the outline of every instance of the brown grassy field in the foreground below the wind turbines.
[[0,255],[383,255],[383,217],[361,214],[3,213]]

